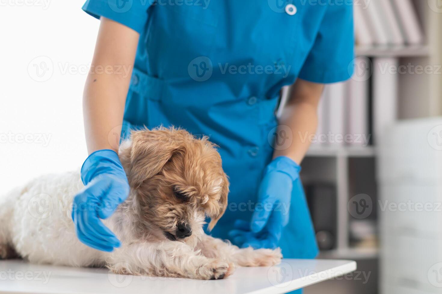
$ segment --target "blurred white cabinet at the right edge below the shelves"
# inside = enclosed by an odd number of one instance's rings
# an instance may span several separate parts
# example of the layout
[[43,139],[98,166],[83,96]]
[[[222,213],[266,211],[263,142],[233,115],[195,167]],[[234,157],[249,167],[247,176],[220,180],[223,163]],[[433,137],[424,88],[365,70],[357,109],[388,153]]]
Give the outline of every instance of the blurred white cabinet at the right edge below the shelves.
[[[442,118],[397,123],[379,146],[381,292],[442,293]],[[438,138],[440,137],[440,138]],[[439,150],[440,149],[440,150]]]

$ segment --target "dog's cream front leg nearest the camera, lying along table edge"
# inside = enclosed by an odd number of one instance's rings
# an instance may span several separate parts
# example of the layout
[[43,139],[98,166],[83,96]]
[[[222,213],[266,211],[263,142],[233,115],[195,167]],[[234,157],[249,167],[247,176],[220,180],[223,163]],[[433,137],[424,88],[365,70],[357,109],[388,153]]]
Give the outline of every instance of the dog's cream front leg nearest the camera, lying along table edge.
[[223,279],[234,264],[208,258],[183,242],[131,242],[110,253],[107,267],[115,273],[191,279]]

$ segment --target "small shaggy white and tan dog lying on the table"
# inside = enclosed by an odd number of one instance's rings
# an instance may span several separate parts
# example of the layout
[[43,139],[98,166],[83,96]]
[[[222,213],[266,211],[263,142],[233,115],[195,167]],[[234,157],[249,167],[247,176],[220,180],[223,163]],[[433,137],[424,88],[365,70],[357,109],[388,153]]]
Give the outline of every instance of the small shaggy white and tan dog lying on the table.
[[240,249],[204,233],[225,212],[229,181],[207,138],[185,130],[133,131],[119,150],[130,195],[103,220],[122,241],[113,252],[81,243],[71,219],[80,173],[43,176],[0,198],[0,259],[107,266],[115,273],[223,279],[239,266],[271,266],[280,250]]

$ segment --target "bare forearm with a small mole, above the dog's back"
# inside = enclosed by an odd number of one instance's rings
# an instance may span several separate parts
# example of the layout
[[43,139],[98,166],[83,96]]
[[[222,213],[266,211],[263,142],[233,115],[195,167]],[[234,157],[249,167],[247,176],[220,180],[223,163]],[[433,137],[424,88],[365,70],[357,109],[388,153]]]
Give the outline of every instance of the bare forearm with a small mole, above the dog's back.
[[83,94],[84,130],[89,154],[100,149],[118,151],[126,95],[139,34],[110,19],[100,29]]

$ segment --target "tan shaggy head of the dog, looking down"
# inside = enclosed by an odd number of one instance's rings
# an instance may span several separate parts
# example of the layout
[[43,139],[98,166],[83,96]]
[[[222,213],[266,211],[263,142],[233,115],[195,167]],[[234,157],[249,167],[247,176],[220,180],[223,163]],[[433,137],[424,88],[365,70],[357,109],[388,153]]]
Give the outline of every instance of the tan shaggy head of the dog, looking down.
[[[221,156],[207,138],[175,128],[133,131],[120,151],[143,222],[172,241],[195,242],[205,216],[212,229],[229,194]],[[159,232],[157,232],[159,233]]]

